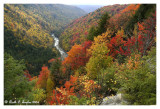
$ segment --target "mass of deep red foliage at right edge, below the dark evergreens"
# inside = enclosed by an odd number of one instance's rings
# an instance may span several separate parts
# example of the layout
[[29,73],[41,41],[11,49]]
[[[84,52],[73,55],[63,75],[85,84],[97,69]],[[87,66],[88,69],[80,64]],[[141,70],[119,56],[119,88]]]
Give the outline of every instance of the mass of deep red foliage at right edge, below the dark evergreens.
[[146,51],[155,44],[156,38],[156,14],[138,23],[138,36],[132,36],[127,41],[123,40],[123,32],[118,33],[108,43],[109,55],[116,57],[117,54],[128,56],[133,52],[141,52],[145,55]]

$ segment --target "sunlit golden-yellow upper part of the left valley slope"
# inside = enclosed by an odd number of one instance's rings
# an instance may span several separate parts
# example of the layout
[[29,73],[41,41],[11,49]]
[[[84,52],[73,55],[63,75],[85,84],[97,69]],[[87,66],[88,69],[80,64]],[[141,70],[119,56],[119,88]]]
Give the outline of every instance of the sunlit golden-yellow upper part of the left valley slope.
[[58,35],[66,24],[84,14],[83,10],[67,5],[5,4],[4,25],[21,33],[22,41],[44,47],[52,45],[50,32]]

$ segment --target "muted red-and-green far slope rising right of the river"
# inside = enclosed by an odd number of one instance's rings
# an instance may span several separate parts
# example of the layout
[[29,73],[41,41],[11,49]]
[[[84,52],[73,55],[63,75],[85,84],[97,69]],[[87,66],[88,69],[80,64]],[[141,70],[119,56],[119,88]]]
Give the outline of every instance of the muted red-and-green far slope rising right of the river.
[[97,9],[94,12],[91,12],[83,17],[80,17],[70,23],[64,32],[60,36],[61,46],[69,51],[71,46],[75,43],[82,43],[86,40],[89,29],[92,26],[96,26],[98,21],[105,12],[108,12],[110,16],[114,16],[117,13],[120,13],[128,5],[110,5],[104,6]]

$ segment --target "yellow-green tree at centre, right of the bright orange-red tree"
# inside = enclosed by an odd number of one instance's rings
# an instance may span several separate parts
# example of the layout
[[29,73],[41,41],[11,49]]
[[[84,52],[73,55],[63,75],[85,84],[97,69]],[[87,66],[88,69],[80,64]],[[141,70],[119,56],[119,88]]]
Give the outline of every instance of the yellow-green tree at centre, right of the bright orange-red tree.
[[87,75],[94,80],[100,82],[101,69],[106,69],[112,62],[112,58],[107,56],[109,52],[106,44],[103,43],[94,43],[89,49],[91,52],[91,58],[86,64]]

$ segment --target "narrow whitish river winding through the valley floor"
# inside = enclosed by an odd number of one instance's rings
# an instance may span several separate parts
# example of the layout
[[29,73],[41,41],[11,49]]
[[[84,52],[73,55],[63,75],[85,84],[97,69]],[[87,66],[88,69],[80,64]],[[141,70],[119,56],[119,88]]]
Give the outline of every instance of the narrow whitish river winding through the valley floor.
[[64,58],[68,56],[67,53],[65,53],[64,50],[59,46],[59,39],[54,34],[52,34],[52,37],[54,38],[55,41],[54,46],[60,52],[61,59],[64,60]]

